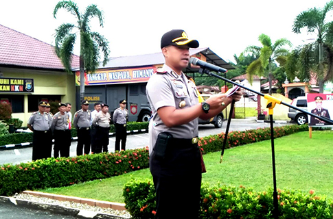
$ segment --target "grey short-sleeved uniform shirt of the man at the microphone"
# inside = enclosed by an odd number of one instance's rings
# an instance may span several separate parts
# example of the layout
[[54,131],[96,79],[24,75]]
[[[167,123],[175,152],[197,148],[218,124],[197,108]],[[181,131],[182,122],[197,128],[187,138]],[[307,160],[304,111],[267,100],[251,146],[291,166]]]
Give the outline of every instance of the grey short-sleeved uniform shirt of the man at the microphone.
[[[169,128],[163,124],[159,114],[157,114],[160,107],[172,106],[179,110],[199,103],[195,83],[187,79],[183,72],[181,75],[177,75],[172,68],[164,64],[161,70],[150,77],[146,86],[146,93],[152,108],[152,118],[149,123],[150,153],[158,134],[163,131],[171,133],[174,138],[188,139],[198,136],[198,118],[190,121],[190,123]],[[184,107],[179,106],[181,101],[185,101]]]

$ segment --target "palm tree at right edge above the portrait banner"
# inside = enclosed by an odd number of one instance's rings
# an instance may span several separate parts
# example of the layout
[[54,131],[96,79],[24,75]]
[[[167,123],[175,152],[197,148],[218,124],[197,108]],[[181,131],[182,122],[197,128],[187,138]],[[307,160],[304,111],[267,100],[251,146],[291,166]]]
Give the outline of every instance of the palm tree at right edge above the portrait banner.
[[[301,75],[310,75],[310,70],[317,72],[317,78],[319,81],[319,92],[323,92],[323,84],[325,80],[332,80],[333,70],[332,70],[332,42],[333,42],[333,22],[325,22],[326,15],[330,10],[333,9],[333,1],[326,3],[323,9],[321,8],[311,8],[307,11],[301,12],[297,15],[292,26],[292,31],[296,34],[301,33],[301,29],[306,27],[308,33],[317,34],[317,40],[315,43],[308,44],[305,47],[301,48],[300,51],[303,51],[305,54],[310,54],[310,59],[302,60],[301,62],[307,62],[311,59],[314,60],[314,63],[310,65],[310,68],[300,69]],[[316,53],[311,53],[315,51]],[[326,57],[325,57],[326,56]],[[308,58],[308,56],[304,56]],[[325,63],[325,61],[327,61]],[[326,73],[324,72],[326,68]],[[303,72],[308,70],[308,73]]]

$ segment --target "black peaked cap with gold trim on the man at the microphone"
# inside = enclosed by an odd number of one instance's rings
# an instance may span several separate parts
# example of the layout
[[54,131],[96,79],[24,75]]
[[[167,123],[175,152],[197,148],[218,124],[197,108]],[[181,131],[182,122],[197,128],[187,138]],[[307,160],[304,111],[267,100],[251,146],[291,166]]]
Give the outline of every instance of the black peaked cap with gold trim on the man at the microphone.
[[173,46],[183,46],[187,45],[190,48],[198,48],[198,40],[190,40],[183,29],[172,29],[166,32],[161,38],[161,49],[163,47]]

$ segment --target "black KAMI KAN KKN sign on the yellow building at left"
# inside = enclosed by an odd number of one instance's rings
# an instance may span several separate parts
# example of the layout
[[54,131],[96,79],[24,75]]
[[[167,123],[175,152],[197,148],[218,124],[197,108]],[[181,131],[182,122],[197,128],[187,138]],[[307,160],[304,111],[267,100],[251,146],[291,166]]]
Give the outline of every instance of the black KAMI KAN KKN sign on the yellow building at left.
[[0,92],[34,92],[34,79],[0,77]]

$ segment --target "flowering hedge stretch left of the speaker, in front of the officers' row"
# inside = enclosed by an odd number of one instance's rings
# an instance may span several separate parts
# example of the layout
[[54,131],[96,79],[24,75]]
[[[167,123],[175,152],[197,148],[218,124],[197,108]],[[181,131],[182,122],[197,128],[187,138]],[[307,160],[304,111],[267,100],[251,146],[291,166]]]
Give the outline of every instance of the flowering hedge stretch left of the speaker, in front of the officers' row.
[[0,168],[0,196],[37,188],[56,188],[148,168],[148,148],[78,157],[50,157]]

